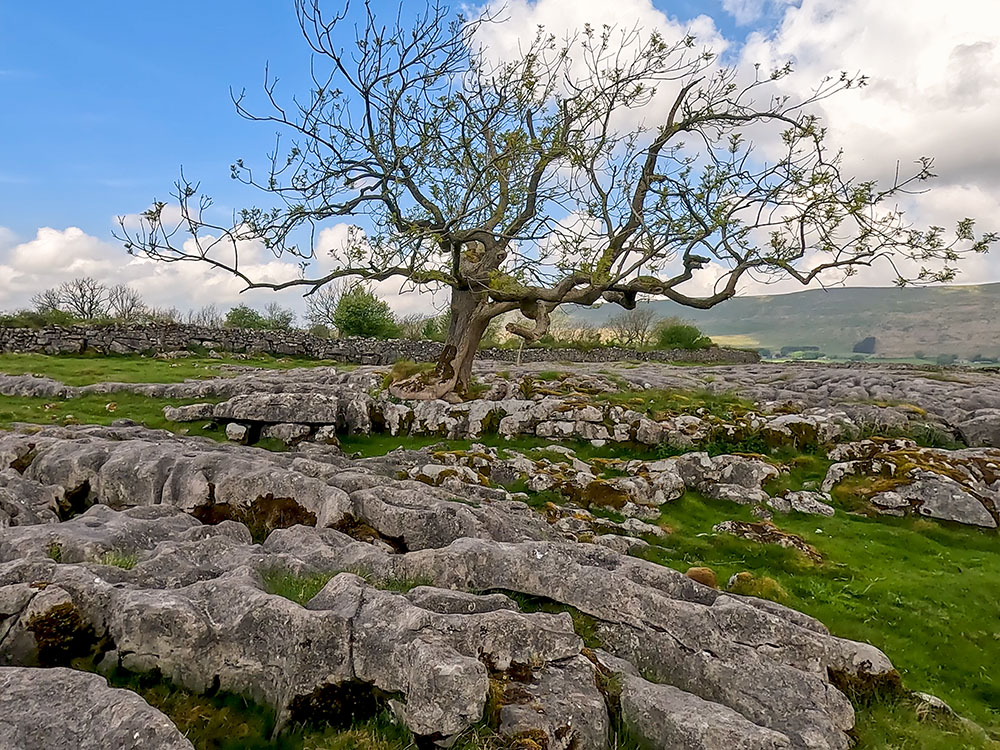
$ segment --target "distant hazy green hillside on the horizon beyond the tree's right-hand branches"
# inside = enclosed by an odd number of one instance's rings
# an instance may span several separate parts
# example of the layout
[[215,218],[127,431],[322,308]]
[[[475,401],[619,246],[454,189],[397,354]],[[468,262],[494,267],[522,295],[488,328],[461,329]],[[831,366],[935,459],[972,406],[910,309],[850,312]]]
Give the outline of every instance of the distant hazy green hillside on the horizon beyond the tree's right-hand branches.
[[[874,336],[876,355],[1000,357],[1000,283],[924,288],[858,287],[738,297],[711,310],[649,303],[657,314],[694,321],[720,343],[779,350],[818,346],[847,355]],[[569,307],[571,317],[603,325],[621,308]]]

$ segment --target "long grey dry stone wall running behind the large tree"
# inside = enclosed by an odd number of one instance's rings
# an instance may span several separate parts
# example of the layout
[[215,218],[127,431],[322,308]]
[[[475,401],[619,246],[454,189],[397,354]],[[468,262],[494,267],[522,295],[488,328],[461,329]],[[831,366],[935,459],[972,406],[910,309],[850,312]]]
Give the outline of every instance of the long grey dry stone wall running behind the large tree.
[[[301,331],[262,331],[243,328],[203,328],[191,325],[51,326],[0,328],[0,351],[72,354],[96,351],[108,354],[166,353],[210,349],[220,352],[274,354],[329,359],[338,362],[386,365],[400,359],[436,359],[442,344],[408,339],[322,339]],[[486,349],[483,359],[513,362],[513,349]],[[755,352],[711,348],[641,352],[621,347],[577,349],[524,349],[522,362],[615,362],[650,360],[742,364],[759,362]]]

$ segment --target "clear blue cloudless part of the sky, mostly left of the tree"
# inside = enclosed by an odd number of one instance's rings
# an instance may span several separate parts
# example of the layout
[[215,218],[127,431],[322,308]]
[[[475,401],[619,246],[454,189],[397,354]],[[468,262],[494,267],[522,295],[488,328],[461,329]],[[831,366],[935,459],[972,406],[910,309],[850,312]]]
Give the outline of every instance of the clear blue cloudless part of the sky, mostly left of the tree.
[[[747,31],[719,0],[655,5]],[[257,94],[265,63],[304,88],[291,0],[0,0],[0,226],[106,238],[114,216],[165,198],[180,165],[231,206],[244,194],[229,165],[262,156],[273,131],[240,119],[229,89]]]

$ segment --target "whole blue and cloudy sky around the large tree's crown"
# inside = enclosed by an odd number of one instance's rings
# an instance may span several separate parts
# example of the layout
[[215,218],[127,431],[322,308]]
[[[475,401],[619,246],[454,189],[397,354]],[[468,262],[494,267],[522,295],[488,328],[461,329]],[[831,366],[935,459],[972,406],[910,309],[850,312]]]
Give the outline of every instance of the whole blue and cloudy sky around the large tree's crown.
[[[395,15],[398,3],[373,7]],[[946,225],[971,215],[1000,229],[997,0],[508,0],[507,13],[494,32],[501,46],[538,23],[639,23],[694,30],[741,64],[793,60],[797,92],[860,70],[871,85],[822,111],[848,167],[885,178],[896,159],[905,168],[933,155],[940,178],[908,215]],[[229,165],[259,163],[274,131],[239,118],[230,90],[259,98],[265,65],[282,90],[306,89],[309,51],[292,0],[0,0],[0,310],[81,275],[182,310],[274,299],[241,298],[234,279],[198,265],[137,261],[111,234],[115,217],[166,199],[181,166],[220,215],[253,200]],[[290,272],[274,258],[250,260],[264,275]],[[1000,249],[973,259],[960,281],[1000,281]],[[888,284],[891,274],[853,283]],[[383,291],[400,313],[429,310],[426,296]],[[303,307],[293,294],[278,301]]]

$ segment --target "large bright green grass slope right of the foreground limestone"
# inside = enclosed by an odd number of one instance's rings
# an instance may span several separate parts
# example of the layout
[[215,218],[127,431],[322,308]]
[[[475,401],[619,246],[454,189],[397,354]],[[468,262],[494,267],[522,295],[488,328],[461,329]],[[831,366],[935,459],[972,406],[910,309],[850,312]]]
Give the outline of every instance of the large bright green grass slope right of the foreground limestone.
[[[908,688],[937,695],[1000,733],[1000,600],[987,593],[1000,580],[995,532],[843,509],[833,518],[777,517],[823,554],[815,565],[792,550],[712,534],[714,524],[731,518],[752,520],[748,508],[687,493],[663,506],[660,523],[673,533],[647,538],[651,546],[639,554],[682,571],[711,567],[720,582],[741,571],[771,577],[786,592],[785,604],[836,635],[882,649]],[[889,732],[892,712],[875,713],[872,721],[886,725],[878,731]]]

